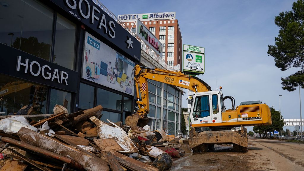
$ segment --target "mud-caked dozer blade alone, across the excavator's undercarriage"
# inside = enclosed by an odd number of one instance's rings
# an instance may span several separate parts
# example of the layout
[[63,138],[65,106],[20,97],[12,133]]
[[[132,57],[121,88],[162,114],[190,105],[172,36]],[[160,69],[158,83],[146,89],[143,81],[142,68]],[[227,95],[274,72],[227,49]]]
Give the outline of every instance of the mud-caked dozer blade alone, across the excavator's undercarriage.
[[236,144],[242,147],[248,147],[247,136],[235,131],[204,131],[189,139],[189,147],[197,148],[200,145],[207,144]]

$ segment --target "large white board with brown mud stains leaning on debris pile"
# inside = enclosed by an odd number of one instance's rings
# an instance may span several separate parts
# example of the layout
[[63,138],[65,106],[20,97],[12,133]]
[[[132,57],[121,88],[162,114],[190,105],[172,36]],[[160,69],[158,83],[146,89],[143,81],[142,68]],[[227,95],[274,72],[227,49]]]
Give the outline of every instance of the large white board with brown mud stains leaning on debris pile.
[[138,152],[138,149],[134,145],[133,141],[121,127],[117,125],[115,127],[110,126],[109,124],[97,119],[95,116],[90,117],[90,120],[96,124],[100,139],[114,138],[116,142],[123,148],[124,151],[121,152]]

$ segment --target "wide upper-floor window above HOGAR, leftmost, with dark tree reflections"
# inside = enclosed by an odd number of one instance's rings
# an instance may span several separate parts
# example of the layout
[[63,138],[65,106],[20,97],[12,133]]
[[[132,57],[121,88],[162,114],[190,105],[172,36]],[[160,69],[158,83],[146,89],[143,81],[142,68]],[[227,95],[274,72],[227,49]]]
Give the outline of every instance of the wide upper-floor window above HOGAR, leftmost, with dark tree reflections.
[[53,11],[36,0],[2,0],[0,43],[50,61]]

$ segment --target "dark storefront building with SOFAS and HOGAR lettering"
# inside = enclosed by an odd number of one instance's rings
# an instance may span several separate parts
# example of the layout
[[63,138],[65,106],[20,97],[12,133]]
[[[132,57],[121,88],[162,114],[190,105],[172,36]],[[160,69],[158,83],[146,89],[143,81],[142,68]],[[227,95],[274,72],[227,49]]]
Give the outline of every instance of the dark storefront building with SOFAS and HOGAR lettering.
[[[98,3],[97,3],[98,4]],[[140,42],[91,0],[0,2],[0,112],[72,113],[101,104],[101,120],[133,113]]]

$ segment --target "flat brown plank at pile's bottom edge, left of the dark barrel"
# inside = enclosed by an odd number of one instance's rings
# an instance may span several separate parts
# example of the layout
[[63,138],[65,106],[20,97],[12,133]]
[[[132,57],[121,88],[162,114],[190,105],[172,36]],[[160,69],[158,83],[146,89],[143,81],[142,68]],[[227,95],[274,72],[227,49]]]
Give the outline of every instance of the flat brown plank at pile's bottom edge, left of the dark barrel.
[[126,166],[127,168],[135,171],[158,171],[157,168],[147,165],[143,162],[137,161],[135,159],[131,159],[130,157],[120,154],[118,152],[111,151],[112,155],[115,156],[115,159],[122,164],[123,166]]

